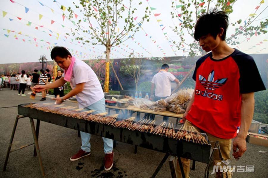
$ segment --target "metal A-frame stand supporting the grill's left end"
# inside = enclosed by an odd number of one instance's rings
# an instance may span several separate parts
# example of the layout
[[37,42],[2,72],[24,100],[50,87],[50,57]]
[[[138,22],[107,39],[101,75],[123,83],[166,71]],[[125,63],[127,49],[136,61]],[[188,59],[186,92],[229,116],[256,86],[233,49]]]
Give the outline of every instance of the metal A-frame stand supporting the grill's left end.
[[9,146],[8,146],[8,149],[7,149],[7,155],[6,155],[6,159],[5,159],[3,171],[5,171],[6,168],[7,168],[7,161],[8,161],[8,158],[9,158],[9,154],[11,152],[14,152],[14,151],[17,151],[17,150],[21,150],[22,148],[28,147],[28,146],[30,146],[32,144],[35,144],[34,156],[36,156],[36,155],[38,156],[39,164],[40,164],[40,169],[41,169],[41,174],[44,176],[45,175],[45,171],[44,171],[44,167],[43,167],[43,163],[42,163],[42,159],[41,159],[41,154],[40,154],[40,150],[39,150],[39,145],[38,145],[38,135],[39,135],[40,120],[37,120],[36,130],[35,130],[34,121],[33,121],[32,118],[29,118],[30,119],[30,123],[31,123],[32,136],[34,138],[34,143],[28,144],[28,145],[25,145],[25,146],[22,146],[22,147],[20,147],[18,149],[15,149],[15,150],[11,150],[13,139],[14,139],[14,135],[15,135],[15,131],[16,131],[16,128],[17,128],[17,125],[18,125],[18,120],[21,119],[21,118],[25,118],[25,116],[17,115],[17,117],[15,119],[13,131],[12,131],[10,142],[9,142]]

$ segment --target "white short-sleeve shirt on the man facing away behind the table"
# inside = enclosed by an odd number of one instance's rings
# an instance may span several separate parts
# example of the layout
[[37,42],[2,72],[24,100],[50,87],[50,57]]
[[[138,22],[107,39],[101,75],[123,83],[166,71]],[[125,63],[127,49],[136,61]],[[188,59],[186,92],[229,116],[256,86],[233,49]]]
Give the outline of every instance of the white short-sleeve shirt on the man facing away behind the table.
[[171,81],[176,77],[170,72],[161,71],[154,75],[152,83],[155,84],[155,96],[167,97],[171,95]]

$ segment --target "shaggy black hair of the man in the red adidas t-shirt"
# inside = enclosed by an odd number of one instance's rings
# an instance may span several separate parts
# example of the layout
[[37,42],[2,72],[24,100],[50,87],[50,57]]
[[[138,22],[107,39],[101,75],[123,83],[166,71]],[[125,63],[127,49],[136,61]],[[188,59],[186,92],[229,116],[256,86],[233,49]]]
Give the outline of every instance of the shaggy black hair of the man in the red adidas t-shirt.
[[217,34],[221,32],[220,28],[223,28],[221,39],[225,40],[228,25],[228,15],[225,12],[213,10],[210,13],[205,13],[201,15],[194,26],[194,39],[199,41],[202,36],[208,34],[211,34],[216,39]]

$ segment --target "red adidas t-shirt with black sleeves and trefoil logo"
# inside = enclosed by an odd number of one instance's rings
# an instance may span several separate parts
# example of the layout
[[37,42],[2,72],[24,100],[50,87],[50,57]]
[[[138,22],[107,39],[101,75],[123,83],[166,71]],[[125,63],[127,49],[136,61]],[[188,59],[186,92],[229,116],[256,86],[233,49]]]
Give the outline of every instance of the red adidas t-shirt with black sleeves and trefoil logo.
[[196,63],[194,103],[186,119],[209,134],[231,139],[241,120],[241,94],[265,90],[250,55],[236,50],[215,60],[212,53]]

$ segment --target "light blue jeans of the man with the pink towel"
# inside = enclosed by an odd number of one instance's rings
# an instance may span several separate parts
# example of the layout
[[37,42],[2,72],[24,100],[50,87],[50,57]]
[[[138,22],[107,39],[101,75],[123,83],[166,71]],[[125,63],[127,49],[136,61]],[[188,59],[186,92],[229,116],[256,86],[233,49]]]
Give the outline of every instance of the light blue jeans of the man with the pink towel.
[[[88,107],[85,107],[85,109],[88,110],[95,110],[95,112],[93,112],[93,114],[97,114],[97,113],[102,113],[102,112],[106,112],[105,110],[105,99],[102,98],[101,100],[97,101],[96,103],[91,104]],[[81,132],[81,140],[82,140],[82,146],[81,149],[84,150],[85,152],[90,152],[90,134],[85,133],[85,132]],[[107,139],[105,137],[102,137],[103,139],[103,147],[104,147],[104,153],[111,153],[113,152],[113,140],[112,139]]]

